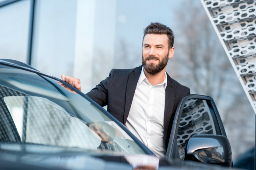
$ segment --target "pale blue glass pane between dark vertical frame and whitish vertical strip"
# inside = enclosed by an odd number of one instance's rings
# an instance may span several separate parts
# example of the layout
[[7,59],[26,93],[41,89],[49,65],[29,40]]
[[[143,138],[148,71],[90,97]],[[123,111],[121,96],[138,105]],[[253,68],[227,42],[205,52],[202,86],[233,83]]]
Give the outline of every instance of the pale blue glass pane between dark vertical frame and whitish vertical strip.
[[75,0],[37,0],[32,66],[45,74],[73,75]]

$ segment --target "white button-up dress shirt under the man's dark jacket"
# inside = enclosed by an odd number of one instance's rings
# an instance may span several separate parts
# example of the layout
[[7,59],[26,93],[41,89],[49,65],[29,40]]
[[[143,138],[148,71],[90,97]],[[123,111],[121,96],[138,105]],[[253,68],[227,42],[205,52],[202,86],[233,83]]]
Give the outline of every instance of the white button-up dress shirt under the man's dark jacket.
[[154,87],[148,82],[143,68],[133,96],[125,126],[156,156],[165,156],[164,111],[167,75]]

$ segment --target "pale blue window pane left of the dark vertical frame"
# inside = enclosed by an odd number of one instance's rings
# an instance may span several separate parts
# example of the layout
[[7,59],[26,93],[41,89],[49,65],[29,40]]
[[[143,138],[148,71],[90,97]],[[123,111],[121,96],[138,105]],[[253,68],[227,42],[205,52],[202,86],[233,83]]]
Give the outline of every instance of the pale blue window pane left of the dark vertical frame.
[[0,58],[27,62],[30,0],[0,8]]

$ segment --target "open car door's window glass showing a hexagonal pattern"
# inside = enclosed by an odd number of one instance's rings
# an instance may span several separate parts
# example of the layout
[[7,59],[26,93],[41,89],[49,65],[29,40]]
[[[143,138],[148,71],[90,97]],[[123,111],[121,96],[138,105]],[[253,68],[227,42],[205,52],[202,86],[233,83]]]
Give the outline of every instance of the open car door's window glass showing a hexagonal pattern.
[[179,157],[185,158],[185,146],[190,136],[195,134],[221,135],[210,101],[190,99],[185,102],[179,122],[177,143]]

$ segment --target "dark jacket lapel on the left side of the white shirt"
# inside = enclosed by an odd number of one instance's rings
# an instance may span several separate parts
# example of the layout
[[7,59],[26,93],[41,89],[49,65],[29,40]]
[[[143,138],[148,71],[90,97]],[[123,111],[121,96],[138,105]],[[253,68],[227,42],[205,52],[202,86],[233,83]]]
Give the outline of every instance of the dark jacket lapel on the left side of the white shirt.
[[126,87],[126,98],[125,98],[125,109],[124,109],[124,116],[123,116],[123,124],[125,125],[126,120],[128,118],[131,105],[133,102],[133,96],[137,87],[137,83],[140,78],[142,65],[140,67],[134,68],[129,75],[128,83]]

